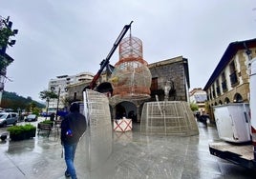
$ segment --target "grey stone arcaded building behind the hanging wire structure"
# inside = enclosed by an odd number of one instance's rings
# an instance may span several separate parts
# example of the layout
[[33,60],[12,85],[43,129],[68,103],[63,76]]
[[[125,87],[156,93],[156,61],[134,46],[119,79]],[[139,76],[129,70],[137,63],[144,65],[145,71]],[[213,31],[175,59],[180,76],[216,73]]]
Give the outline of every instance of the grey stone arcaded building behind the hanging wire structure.
[[[113,66],[112,66],[113,67]],[[112,118],[116,118],[117,111],[120,114],[125,113],[128,117],[129,112],[133,111],[136,116],[135,121],[139,122],[140,113],[144,102],[156,101],[156,95],[160,101],[164,100],[164,89],[168,88],[169,101],[189,101],[189,71],[188,62],[182,56],[170,58],[148,65],[148,69],[152,75],[151,96],[149,99],[136,100],[119,100],[113,101],[110,99],[110,107]],[[111,83],[104,81],[107,70],[103,70],[104,78],[100,78],[100,83],[96,87],[97,91],[107,93],[111,89]],[[68,98],[71,101],[82,101],[82,91],[90,84],[90,81],[78,83],[68,86]],[[110,96],[109,96],[110,97]]]

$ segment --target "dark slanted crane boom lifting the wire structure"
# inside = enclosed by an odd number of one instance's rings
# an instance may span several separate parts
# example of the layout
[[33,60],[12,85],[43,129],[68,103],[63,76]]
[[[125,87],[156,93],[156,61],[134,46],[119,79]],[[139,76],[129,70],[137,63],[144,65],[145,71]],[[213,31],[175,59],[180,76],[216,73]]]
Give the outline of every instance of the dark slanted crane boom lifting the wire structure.
[[102,70],[104,70],[104,68],[109,64],[110,58],[112,57],[115,50],[117,50],[117,47],[118,47],[120,41],[122,40],[122,38],[124,37],[124,35],[126,34],[126,32],[131,28],[132,23],[133,23],[133,21],[131,21],[131,23],[129,25],[125,25],[123,27],[123,29],[121,30],[120,34],[117,37],[116,42],[113,45],[113,48],[110,50],[107,57],[102,61],[102,65],[101,65],[100,69],[97,71],[96,75],[94,76],[92,82],[87,87],[87,89],[95,89],[96,88],[96,80],[99,78]]

